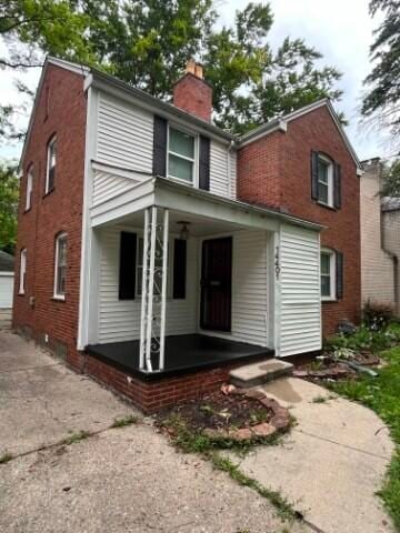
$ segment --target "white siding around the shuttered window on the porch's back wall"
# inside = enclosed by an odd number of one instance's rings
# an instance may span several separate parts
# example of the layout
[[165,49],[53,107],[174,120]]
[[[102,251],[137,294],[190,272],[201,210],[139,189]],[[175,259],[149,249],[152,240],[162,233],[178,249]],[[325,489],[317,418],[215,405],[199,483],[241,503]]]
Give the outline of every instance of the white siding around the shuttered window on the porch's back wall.
[[[140,233],[138,232],[138,235]],[[171,235],[171,242],[174,237]],[[99,342],[119,342],[139,339],[141,299],[119,300],[118,228],[103,229],[100,234]],[[188,241],[187,298],[167,300],[168,335],[194,333],[197,328],[197,240]],[[138,280],[137,280],[138,281]]]

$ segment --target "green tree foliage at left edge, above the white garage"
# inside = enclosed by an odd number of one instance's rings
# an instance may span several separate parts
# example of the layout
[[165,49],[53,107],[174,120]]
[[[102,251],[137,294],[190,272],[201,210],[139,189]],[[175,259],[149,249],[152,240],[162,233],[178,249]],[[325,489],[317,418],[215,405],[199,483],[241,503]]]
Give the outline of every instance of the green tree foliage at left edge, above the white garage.
[[0,163],[0,250],[11,253],[17,239],[18,194],[16,167]]

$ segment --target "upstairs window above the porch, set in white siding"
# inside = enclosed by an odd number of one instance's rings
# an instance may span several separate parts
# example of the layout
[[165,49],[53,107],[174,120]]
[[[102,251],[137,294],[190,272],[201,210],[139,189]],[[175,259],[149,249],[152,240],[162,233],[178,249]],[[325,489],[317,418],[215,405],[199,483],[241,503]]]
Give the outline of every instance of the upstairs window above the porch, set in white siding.
[[169,178],[187,183],[194,182],[196,140],[183,131],[169,128],[168,170]]

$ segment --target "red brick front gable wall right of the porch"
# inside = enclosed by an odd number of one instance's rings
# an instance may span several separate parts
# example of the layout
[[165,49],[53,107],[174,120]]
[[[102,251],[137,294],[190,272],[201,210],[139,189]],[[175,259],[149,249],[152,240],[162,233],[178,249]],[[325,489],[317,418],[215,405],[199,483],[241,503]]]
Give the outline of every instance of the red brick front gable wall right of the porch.
[[[324,208],[311,200],[311,150],[326,152],[342,169],[342,208]],[[323,334],[338,322],[360,319],[359,178],[356,164],[327,108],[289,122],[287,133],[274,132],[239,151],[238,198],[280,208],[326,225],[321,245],[344,258],[344,292],[338,302],[322,303]]]

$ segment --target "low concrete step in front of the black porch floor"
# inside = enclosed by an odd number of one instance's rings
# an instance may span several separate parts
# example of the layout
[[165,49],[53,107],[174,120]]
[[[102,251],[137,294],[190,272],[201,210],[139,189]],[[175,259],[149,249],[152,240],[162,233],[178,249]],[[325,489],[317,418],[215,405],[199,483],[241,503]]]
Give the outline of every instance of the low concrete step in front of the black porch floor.
[[259,363],[247,364],[229,372],[230,382],[233,385],[248,389],[277,380],[284,375],[291,375],[293,365],[279,359],[268,359]]

